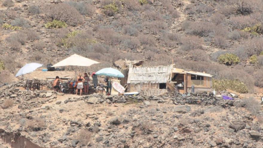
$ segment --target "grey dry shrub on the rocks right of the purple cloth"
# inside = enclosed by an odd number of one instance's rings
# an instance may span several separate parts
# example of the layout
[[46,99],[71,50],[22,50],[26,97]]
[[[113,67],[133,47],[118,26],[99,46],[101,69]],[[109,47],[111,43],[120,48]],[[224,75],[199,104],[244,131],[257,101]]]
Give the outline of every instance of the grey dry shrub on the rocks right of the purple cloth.
[[237,106],[245,107],[253,115],[257,115],[261,111],[259,100],[254,97],[242,99]]

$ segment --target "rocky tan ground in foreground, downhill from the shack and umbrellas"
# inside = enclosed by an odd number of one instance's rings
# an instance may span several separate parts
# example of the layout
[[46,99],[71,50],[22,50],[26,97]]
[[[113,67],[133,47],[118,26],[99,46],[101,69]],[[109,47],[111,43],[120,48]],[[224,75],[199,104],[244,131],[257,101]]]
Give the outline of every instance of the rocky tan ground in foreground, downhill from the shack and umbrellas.
[[[19,132],[41,147],[263,147],[262,107],[252,114],[238,97],[79,97],[19,90],[21,85],[0,91],[2,107],[5,100],[13,100],[13,105],[0,109],[2,138]],[[0,142],[0,147],[8,147]]]

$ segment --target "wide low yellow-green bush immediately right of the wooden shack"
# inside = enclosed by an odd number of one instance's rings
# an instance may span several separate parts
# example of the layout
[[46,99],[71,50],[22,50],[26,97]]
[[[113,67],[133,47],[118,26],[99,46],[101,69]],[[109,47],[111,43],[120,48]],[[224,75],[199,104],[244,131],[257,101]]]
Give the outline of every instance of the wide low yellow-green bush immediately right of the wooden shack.
[[240,82],[239,80],[212,80],[213,88],[217,91],[223,91],[226,89],[231,89],[233,91],[239,92],[239,93],[247,93],[248,89],[247,86]]

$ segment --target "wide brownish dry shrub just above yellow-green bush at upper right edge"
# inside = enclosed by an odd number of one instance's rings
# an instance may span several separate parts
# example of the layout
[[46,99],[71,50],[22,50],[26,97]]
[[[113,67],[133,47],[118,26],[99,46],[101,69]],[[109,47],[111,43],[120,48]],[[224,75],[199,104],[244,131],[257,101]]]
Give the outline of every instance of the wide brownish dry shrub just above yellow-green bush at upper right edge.
[[234,29],[244,29],[252,27],[257,23],[256,19],[251,16],[233,16],[229,19],[228,24]]

